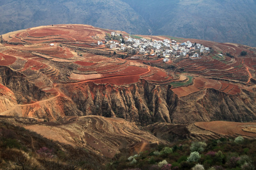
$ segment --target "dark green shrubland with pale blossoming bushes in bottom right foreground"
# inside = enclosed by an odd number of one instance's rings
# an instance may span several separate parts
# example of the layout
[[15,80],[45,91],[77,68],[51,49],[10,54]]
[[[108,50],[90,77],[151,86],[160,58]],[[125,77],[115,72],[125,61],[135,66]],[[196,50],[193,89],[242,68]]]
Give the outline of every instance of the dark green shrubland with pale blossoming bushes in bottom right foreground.
[[106,170],[255,170],[255,144],[256,139],[241,136],[192,143],[183,140],[130,157],[119,153]]

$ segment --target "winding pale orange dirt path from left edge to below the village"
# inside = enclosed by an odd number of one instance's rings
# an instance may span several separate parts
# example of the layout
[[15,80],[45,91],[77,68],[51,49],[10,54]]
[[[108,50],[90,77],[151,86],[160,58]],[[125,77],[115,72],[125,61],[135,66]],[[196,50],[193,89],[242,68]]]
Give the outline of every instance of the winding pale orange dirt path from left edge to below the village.
[[54,87],[54,89],[57,92],[56,96],[53,96],[53,97],[45,99],[45,100],[37,101],[37,102],[34,102],[34,103],[30,103],[30,104],[16,104],[11,109],[1,112],[0,115],[6,115],[7,113],[9,113],[10,111],[14,110],[18,106],[21,106],[21,107],[22,106],[32,106],[32,105],[39,104],[39,103],[42,103],[42,102],[48,102],[50,100],[53,100],[53,99],[59,97],[62,92],[58,88],[56,88],[58,85],[75,85],[75,84],[82,84],[82,83],[87,83],[87,82],[91,82],[91,81],[96,81],[96,80],[105,80],[105,79],[119,78],[119,77],[142,76],[144,74],[149,73],[150,71],[151,71],[150,70],[150,66],[147,66],[147,71],[145,73],[136,74],[136,75],[103,77],[103,78],[90,79],[90,80],[85,80],[85,81],[75,82],[75,83],[62,83],[62,84],[61,83],[59,83],[59,84],[54,83],[53,87]]

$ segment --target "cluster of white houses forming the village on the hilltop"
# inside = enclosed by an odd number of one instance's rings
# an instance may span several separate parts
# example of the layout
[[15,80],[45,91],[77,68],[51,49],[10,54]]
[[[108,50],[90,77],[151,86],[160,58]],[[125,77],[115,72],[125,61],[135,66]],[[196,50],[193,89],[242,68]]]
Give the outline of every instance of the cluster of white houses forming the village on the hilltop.
[[[163,41],[151,41],[145,38],[133,38],[131,36],[122,37],[121,34],[111,32],[111,37],[106,36],[102,40],[106,47],[113,51],[124,51],[134,55],[150,55],[165,58],[163,61],[167,62],[171,58],[179,58],[181,56],[190,57],[190,59],[201,59],[199,53],[209,51],[209,47],[205,47],[200,43],[176,42],[174,40],[165,39]],[[104,43],[98,41],[98,45]]]

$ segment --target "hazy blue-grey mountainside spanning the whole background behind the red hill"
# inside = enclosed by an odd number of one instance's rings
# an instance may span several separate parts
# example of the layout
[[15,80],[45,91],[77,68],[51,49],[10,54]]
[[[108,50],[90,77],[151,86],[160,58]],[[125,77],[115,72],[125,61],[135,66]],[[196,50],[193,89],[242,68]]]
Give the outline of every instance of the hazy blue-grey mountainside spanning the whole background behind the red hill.
[[[89,24],[131,34],[256,46],[255,0],[1,0],[0,34],[51,24]],[[15,9],[15,10],[13,10]]]

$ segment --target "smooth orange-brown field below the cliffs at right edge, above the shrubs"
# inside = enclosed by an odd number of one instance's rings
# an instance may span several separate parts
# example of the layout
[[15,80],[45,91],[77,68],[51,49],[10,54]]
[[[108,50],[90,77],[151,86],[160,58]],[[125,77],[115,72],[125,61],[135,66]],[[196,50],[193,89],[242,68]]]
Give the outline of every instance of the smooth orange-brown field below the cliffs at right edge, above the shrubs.
[[256,133],[246,132],[243,129],[246,127],[255,127],[256,122],[238,123],[226,121],[211,121],[211,122],[196,122],[195,126],[209,130],[214,133],[229,136],[249,136],[256,137]]

